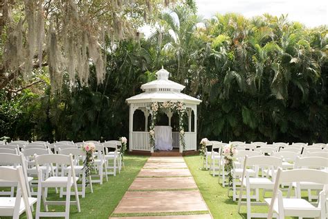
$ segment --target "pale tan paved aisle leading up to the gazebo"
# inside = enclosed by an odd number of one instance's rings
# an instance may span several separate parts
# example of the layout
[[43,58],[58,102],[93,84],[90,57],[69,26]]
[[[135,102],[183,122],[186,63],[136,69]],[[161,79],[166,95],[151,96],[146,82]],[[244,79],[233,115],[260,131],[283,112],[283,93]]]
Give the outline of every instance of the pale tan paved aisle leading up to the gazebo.
[[113,216],[116,219],[212,218],[182,157],[150,157]]

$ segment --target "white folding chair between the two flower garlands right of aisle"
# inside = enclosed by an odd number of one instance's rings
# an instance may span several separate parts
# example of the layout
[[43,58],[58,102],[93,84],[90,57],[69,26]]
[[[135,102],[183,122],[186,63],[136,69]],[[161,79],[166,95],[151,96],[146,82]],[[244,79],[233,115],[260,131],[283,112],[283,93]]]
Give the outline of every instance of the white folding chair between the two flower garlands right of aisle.
[[[218,175],[220,175],[221,172],[221,164],[222,164],[222,146],[225,145],[225,143],[222,143],[220,141],[210,141],[212,144],[212,150],[210,152],[210,174],[212,173],[212,176],[215,177],[217,175],[216,170],[218,170]],[[224,177],[224,176],[222,176]]]

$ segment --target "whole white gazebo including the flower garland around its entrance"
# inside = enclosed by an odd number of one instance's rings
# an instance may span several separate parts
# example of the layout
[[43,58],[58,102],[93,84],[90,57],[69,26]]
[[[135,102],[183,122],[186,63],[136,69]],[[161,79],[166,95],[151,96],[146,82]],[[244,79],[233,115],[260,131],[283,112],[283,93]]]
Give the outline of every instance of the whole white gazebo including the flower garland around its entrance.
[[[165,69],[156,72],[157,80],[141,85],[141,94],[127,98],[129,104],[129,150],[154,151],[155,125],[158,112],[166,114],[168,125],[174,112],[179,115],[179,130],[172,132],[173,148],[197,150],[197,105],[201,100],[181,93],[185,86],[169,80],[170,73]],[[134,130],[134,112],[140,109],[145,115],[145,130]],[[192,114],[194,130],[192,130]],[[148,117],[151,125],[148,127]],[[183,116],[188,116],[188,129],[185,130]]]

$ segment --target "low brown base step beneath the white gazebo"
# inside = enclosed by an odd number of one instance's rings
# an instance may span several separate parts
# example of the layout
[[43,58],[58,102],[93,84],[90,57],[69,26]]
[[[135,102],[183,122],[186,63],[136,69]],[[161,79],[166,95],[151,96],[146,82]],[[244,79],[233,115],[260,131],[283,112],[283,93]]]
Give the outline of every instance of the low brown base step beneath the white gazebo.
[[179,152],[178,148],[174,148],[173,150],[156,150],[154,152],[145,150],[132,150],[129,151],[129,155],[147,155],[152,157],[181,157],[186,155],[199,155],[199,151],[188,150],[181,153]]

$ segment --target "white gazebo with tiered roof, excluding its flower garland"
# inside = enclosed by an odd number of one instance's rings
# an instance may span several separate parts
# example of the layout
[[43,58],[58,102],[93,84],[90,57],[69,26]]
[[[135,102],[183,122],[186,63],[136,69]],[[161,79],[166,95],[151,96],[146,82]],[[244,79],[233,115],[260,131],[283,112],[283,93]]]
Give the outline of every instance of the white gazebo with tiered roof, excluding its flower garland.
[[[157,80],[147,82],[141,85],[144,91],[141,94],[127,98],[129,104],[129,150],[152,151],[150,145],[150,137],[148,130],[148,117],[152,116],[152,103],[180,102],[184,103],[185,112],[188,116],[188,130],[185,130],[185,148],[184,150],[197,150],[197,105],[201,100],[182,94],[181,91],[185,86],[169,80],[170,73],[165,69],[156,72]],[[140,109],[145,115],[145,130],[134,130],[134,112]],[[168,125],[171,126],[173,112],[165,111],[168,118]],[[192,130],[192,114],[194,117],[194,129]],[[181,146],[179,132],[172,132],[173,148],[179,148],[183,152]]]

